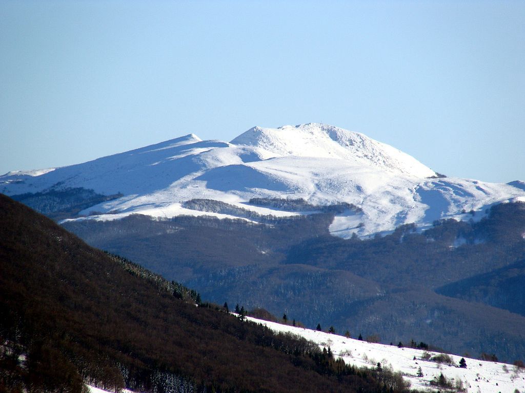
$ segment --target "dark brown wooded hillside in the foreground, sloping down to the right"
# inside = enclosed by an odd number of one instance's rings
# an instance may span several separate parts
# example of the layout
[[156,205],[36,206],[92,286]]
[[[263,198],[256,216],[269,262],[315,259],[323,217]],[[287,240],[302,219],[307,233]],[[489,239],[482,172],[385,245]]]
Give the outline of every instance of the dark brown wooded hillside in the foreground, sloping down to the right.
[[195,299],[0,195],[0,391],[392,391]]

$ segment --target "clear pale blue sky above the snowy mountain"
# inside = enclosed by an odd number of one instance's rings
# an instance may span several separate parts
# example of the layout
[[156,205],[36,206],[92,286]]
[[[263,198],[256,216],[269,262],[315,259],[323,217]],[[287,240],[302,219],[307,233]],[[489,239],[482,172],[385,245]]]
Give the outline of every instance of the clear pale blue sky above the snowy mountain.
[[0,0],[0,172],[323,122],[525,180],[525,2]]

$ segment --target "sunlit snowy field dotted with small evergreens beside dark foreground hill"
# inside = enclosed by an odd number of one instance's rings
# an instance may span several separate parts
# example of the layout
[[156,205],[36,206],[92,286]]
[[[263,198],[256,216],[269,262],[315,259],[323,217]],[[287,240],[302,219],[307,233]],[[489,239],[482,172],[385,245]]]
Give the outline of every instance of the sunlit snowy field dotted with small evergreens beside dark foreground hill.
[[[514,393],[516,389],[525,391],[525,370],[498,362],[486,362],[465,357],[467,368],[459,368],[462,356],[449,355],[454,360],[454,366],[439,364],[422,359],[423,350],[413,348],[398,348],[395,345],[367,343],[348,339],[337,334],[329,334],[316,330],[296,328],[275,322],[268,322],[247,317],[248,320],[262,323],[276,332],[289,332],[300,335],[307,340],[316,342],[319,346],[330,346],[334,356],[344,359],[347,364],[355,366],[392,367],[394,372],[400,372],[405,380],[410,381],[412,389],[439,390],[431,387],[430,381],[441,373],[454,384],[461,381],[468,393]],[[435,356],[437,353],[429,352]],[[415,357],[415,360],[414,360]],[[423,377],[418,377],[421,367]],[[443,389],[441,389],[443,391]]]

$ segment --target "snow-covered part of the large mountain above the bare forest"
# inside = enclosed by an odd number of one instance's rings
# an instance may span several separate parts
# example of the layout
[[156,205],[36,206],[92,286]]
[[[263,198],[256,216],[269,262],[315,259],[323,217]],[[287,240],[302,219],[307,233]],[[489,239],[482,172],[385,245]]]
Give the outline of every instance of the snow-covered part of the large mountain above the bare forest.
[[112,220],[133,213],[236,217],[194,210],[184,203],[192,199],[275,216],[308,212],[250,204],[250,199],[345,202],[360,209],[335,216],[330,232],[341,237],[386,233],[408,223],[424,227],[448,217],[470,219],[468,212],[479,219],[492,204],[525,201],[522,182],[439,177],[392,146],[325,124],[254,127],[230,143],[191,134],[78,165],[0,176],[0,192],[7,195],[71,188],[123,194],[81,211],[80,216],[88,217],[77,220]]

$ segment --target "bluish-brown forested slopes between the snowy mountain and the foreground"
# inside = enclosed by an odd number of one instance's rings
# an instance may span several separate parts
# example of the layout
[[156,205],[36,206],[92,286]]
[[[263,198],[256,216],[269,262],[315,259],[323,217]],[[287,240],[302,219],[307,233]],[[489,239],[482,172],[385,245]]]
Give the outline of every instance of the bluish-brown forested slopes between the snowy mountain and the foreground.
[[[333,324],[387,343],[423,338],[447,351],[494,353],[511,362],[525,353],[525,204],[494,205],[478,222],[475,215],[470,222],[436,221],[421,233],[404,225],[360,241],[328,231],[334,212],[355,211],[351,205],[250,203],[310,214],[246,212],[256,223],[132,215],[64,227],[219,304],[286,312],[310,328]],[[186,207],[243,214],[211,200]]]

